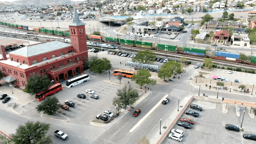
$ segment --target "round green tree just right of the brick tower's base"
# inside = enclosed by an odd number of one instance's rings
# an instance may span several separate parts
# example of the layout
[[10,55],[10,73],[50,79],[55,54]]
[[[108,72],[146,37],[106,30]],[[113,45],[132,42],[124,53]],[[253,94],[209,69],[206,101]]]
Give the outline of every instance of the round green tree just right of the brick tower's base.
[[111,67],[111,62],[107,58],[99,58],[90,62],[90,70],[97,73],[102,73],[102,71],[109,70]]

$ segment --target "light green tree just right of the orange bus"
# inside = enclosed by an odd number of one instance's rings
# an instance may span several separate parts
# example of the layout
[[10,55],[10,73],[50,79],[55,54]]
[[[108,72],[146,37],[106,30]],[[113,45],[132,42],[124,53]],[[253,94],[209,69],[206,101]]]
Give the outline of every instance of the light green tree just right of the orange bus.
[[[137,56],[136,56],[137,57]],[[136,84],[139,84],[140,88],[142,85],[155,85],[156,80],[150,79],[151,73],[148,69],[141,69],[137,71],[137,73],[132,76],[132,81],[135,81]]]

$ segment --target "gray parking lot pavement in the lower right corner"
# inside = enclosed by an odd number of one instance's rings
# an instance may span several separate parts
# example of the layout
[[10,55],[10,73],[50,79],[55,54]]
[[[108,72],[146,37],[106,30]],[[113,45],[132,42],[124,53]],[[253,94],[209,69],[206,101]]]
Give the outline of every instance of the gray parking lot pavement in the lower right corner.
[[[222,112],[222,104],[197,100],[192,101],[192,103],[203,107],[203,111],[201,112],[195,110],[200,114],[199,117],[195,118],[186,115],[185,113],[181,116],[181,118],[190,118],[194,120],[192,129],[185,129],[176,123],[173,129],[184,131],[184,136],[182,137],[183,140],[177,142],[177,140],[167,137],[163,144],[255,144],[255,141],[243,138],[244,133],[256,133],[256,122],[248,116],[247,110],[243,120],[244,131],[228,131],[225,128],[226,124],[233,124],[240,127],[245,107],[241,107],[241,117],[237,117],[235,105],[228,105],[228,113],[224,114]],[[186,110],[192,109],[188,107]]]

